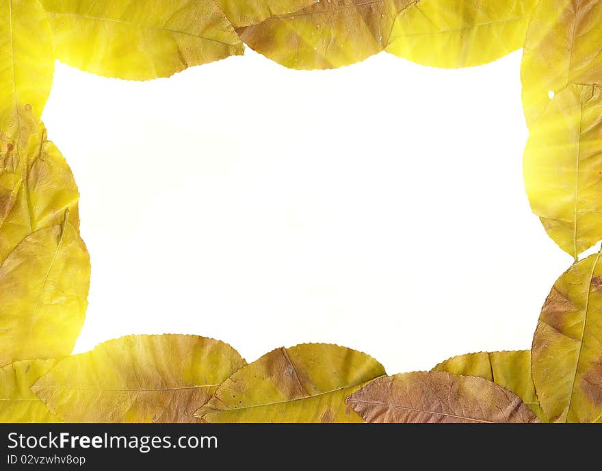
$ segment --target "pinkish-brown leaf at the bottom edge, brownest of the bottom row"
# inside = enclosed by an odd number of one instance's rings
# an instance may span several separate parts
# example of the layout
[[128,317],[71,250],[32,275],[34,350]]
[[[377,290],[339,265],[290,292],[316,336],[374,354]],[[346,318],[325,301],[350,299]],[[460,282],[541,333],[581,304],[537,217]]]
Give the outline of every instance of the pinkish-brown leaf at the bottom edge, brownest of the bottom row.
[[443,371],[382,377],[347,403],[366,422],[539,422],[519,396],[503,387]]

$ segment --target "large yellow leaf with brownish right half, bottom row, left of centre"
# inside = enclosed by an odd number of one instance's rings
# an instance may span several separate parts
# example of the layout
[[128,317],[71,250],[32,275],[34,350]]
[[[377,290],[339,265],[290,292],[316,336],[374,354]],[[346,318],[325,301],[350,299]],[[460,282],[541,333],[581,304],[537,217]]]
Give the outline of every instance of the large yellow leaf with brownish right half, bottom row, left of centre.
[[129,335],[60,361],[31,388],[66,422],[199,422],[193,412],[246,363],[196,335]]

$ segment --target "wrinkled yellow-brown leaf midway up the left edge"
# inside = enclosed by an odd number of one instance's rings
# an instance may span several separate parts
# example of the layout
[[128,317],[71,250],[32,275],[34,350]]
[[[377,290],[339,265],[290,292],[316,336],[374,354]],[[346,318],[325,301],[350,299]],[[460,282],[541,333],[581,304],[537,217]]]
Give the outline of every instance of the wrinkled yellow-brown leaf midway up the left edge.
[[31,107],[16,116],[17,129],[0,130],[0,264],[32,232],[60,224],[67,210],[79,226],[79,192],[64,157]]

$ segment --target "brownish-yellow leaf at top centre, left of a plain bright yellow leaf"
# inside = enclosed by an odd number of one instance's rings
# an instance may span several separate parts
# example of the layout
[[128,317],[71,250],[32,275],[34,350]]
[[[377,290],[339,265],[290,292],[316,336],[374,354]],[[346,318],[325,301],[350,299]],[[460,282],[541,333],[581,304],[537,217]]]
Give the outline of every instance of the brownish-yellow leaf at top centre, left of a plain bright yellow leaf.
[[395,18],[417,0],[322,0],[241,32],[249,47],[290,68],[336,68],[387,45]]

